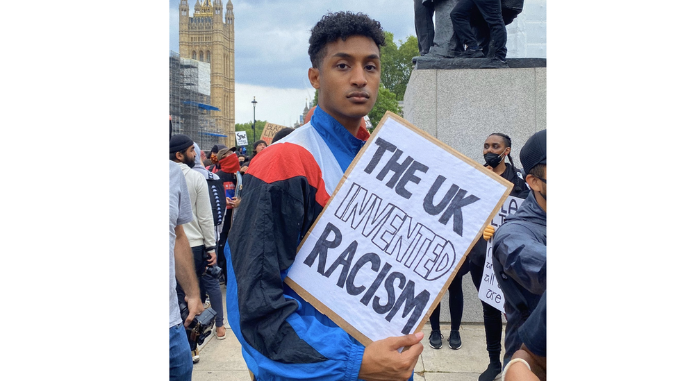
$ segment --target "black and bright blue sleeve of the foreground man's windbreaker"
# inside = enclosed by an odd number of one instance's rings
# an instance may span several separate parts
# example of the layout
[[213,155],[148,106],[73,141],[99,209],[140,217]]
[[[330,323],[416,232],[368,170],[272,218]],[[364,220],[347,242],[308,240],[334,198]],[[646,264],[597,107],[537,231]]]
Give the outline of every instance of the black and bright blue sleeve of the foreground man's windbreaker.
[[283,283],[322,210],[314,187],[304,176],[246,174],[244,182],[229,234],[226,307],[247,366],[257,380],[357,380],[365,347]]

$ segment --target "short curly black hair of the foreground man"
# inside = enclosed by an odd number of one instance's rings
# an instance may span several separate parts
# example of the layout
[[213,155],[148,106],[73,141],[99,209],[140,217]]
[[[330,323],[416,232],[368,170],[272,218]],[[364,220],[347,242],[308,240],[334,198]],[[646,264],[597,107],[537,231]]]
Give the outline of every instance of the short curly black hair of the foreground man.
[[325,57],[326,44],[340,38],[346,41],[352,35],[371,38],[380,50],[385,44],[381,24],[371,19],[370,16],[361,12],[328,13],[311,29],[311,38],[308,39],[308,56],[311,57],[311,65],[315,68],[320,67],[320,62]]

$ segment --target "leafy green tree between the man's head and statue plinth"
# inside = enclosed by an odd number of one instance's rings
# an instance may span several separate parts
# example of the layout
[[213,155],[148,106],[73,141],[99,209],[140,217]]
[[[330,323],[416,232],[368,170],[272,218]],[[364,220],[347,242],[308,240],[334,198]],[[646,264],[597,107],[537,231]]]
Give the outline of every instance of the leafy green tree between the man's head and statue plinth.
[[397,101],[405,96],[410,74],[414,69],[412,58],[419,56],[417,37],[410,35],[407,40],[393,42],[393,33],[384,31],[386,45],[381,47],[381,83],[395,94]]

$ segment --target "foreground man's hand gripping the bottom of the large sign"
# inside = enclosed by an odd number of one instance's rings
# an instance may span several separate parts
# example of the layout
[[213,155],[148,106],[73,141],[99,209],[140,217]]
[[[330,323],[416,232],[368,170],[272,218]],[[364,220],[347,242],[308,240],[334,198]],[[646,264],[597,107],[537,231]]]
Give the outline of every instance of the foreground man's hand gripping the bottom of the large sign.
[[[367,381],[408,380],[424,351],[420,343],[423,338],[424,332],[417,332],[373,341],[365,347],[358,378]],[[406,349],[398,353],[398,349],[403,347]]]

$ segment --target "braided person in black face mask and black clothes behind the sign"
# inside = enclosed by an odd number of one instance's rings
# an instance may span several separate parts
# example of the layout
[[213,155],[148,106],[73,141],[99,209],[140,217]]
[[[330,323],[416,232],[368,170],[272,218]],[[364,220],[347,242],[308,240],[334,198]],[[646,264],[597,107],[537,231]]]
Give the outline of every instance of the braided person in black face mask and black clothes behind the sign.
[[[514,184],[511,196],[520,198],[527,197],[529,188],[525,185],[520,170],[516,169],[513,165],[513,159],[511,158],[511,138],[508,135],[493,133],[488,136],[483,144],[483,158],[486,161],[484,164],[485,167]],[[509,163],[505,161],[506,158],[509,158]],[[489,239],[490,237],[491,232],[489,235],[483,233],[483,238],[485,239],[479,239],[471,248],[466,261],[448,287],[449,316],[452,320],[452,330],[447,339],[449,348],[461,348],[459,328],[461,326],[461,316],[464,307],[462,277],[470,272],[476,289],[480,288],[487,252],[486,239]],[[485,325],[485,337],[490,364],[488,364],[486,371],[481,373],[478,380],[490,381],[494,380],[497,375],[502,373],[501,353],[502,330],[504,325],[502,323],[502,312],[487,303],[481,303],[483,304],[483,323]],[[443,335],[440,332],[440,304],[431,313],[431,319],[429,321],[431,322],[429,345],[434,349],[441,348],[443,346]]]

